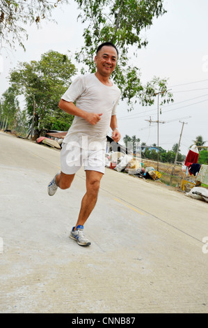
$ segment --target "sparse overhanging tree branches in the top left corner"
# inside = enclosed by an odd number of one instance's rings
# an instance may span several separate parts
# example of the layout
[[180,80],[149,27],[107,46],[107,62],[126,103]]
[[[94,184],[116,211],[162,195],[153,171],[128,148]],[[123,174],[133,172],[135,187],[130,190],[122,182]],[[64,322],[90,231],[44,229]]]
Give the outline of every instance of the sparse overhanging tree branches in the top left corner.
[[26,24],[40,24],[51,20],[51,12],[67,0],[0,0],[0,43],[15,48],[17,43],[24,48],[23,40],[28,37]]

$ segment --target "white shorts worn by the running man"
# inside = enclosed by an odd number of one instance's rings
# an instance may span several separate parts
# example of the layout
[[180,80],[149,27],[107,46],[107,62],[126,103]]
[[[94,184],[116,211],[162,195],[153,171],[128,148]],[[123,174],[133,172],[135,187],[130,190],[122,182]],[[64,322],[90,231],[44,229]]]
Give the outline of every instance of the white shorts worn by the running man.
[[84,170],[105,172],[105,151],[86,150],[72,144],[62,144],[61,149],[61,172],[74,174],[80,167]]

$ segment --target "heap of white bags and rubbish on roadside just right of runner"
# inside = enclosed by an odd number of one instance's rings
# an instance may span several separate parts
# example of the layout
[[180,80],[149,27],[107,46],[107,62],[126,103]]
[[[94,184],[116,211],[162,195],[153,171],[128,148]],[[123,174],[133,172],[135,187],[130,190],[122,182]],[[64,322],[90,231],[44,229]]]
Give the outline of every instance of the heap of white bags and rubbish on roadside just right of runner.
[[106,167],[118,172],[126,172],[143,179],[160,179],[161,173],[154,167],[143,167],[141,158],[121,153],[120,151],[106,153]]

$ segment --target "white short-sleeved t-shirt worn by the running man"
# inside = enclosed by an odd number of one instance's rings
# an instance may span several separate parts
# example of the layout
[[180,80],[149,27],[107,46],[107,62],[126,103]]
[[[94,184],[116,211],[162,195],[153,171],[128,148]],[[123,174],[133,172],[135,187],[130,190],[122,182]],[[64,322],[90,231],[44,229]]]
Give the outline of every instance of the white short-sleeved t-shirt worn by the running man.
[[61,98],[72,103],[76,101],[76,106],[86,112],[102,113],[95,126],[75,116],[63,142],[83,149],[104,149],[111,116],[116,114],[120,89],[115,84],[106,86],[91,73],[77,77]]

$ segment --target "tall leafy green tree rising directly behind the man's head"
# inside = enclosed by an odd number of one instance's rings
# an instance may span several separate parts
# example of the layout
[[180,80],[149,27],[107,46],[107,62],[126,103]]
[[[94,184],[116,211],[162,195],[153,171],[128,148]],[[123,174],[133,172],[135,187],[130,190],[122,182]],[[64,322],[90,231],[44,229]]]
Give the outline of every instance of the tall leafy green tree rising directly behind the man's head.
[[[122,91],[122,99],[127,100],[128,109],[139,101],[142,105],[152,105],[155,97],[161,95],[161,104],[173,101],[167,89],[167,79],[154,77],[146,85],[141,83],[138,67],[130,64],[129,48],[135,56],[141,47],[147,45],[143,31],[150,28],[154,17],[166,13],[163,0],[75,0],[79,5],[79,18],[88,24],[84,29],[85,45],[77,52],[77,60],[90,71],[95,71],[94,56],[97,45],[113,42],[120,51],[119,62],[113,78]],[[134,62],[134,59],[132,62]]]

